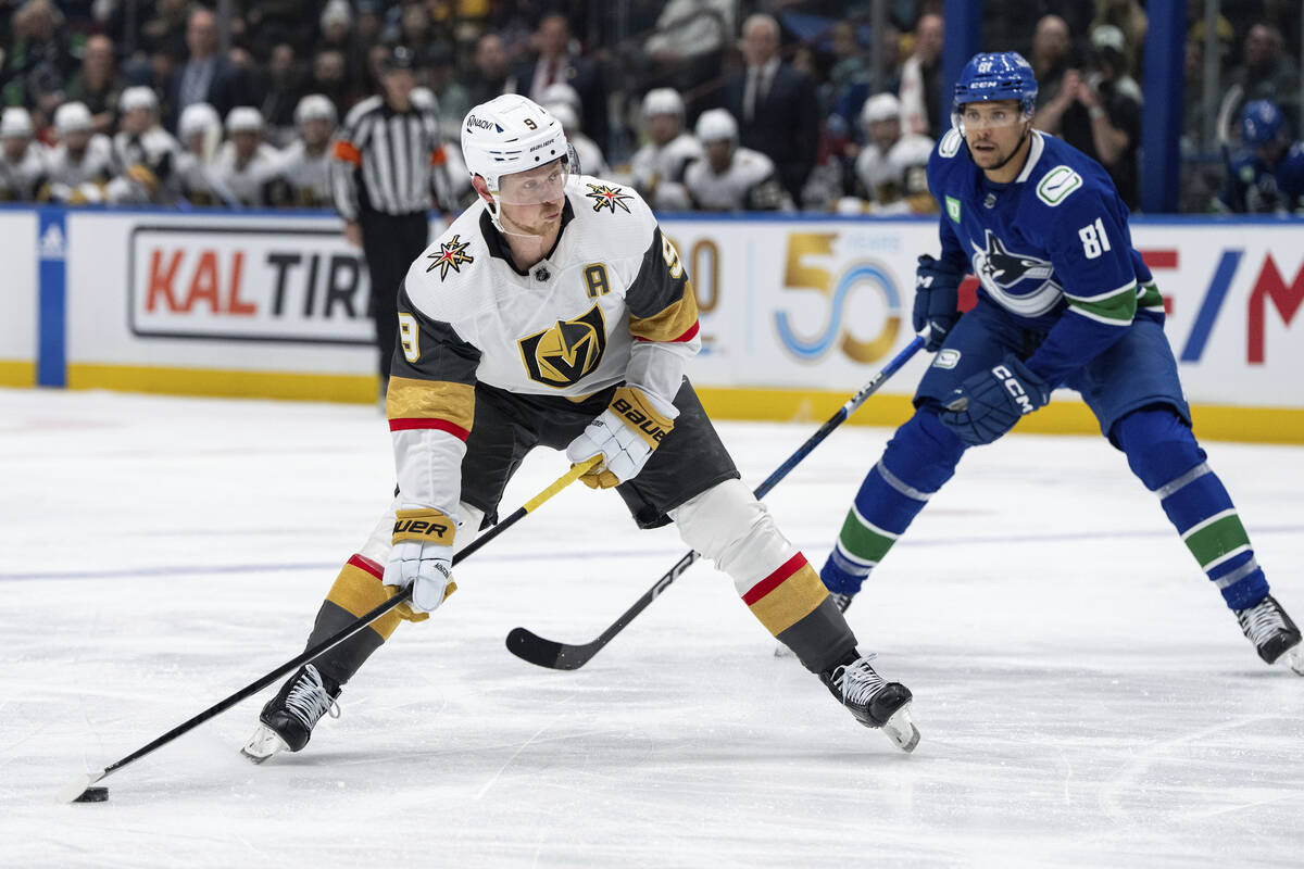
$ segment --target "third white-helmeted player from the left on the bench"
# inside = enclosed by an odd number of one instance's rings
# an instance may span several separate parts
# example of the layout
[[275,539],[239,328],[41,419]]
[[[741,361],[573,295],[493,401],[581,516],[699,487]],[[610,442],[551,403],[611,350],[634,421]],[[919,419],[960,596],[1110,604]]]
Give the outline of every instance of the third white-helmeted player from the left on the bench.
[[159,126],[159,100],[145,86],[128,87],[119,100],[113,169],[104,197],[112,203],[172,205],[180,192],[176,175],[181,146]]

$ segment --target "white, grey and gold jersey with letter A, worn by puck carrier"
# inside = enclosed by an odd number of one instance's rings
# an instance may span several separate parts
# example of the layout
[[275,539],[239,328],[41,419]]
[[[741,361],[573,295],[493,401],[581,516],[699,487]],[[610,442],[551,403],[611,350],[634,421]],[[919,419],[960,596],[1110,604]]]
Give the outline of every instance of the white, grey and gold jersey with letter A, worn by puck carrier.
[[515,267],[482,201],[412,263],[386,403],[403,503],[455,515],[475,384],[583,397],[627,382],[669,404],[700,348],[679,254],[634,190],[566,188],[556,248]]

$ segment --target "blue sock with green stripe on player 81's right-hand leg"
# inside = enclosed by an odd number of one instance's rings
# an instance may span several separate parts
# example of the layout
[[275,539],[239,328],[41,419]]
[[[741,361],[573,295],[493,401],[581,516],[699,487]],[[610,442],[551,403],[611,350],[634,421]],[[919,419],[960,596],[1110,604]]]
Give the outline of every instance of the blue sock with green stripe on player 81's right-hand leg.
[[1167,408],[1142,409],[1120,420],[1114,435],[1227,606],[1245,610],[1262,601],[1267,578],[1249,534],[1187,423]]

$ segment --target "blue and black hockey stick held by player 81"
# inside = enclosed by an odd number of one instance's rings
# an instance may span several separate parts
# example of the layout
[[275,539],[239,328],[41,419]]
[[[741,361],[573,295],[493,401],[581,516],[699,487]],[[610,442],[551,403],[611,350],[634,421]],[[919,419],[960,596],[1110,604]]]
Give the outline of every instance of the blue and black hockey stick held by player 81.
[[[878,392],[879,387],[883,386],[889,377],[896,374],[902,365],[910,361],[919,348],[923,347],[923,337],[915,336],[904,350],[896,354],[891,362],[888,362],[882,371],[874,375],[868,383],[861,387],[861,391],[846,400],[841,408],[837,409],[828,421],[819,427],[819,430],[807,438],[806,443],[797,448],[797,452],[790,455],[784,464],[781,464],[775,473],[769,474],[760,486],[756,487],[756,498],[764,498],[769,490],[778,485],[778,482],[788,476],[788,473],[801,463],[815,447],[820,444],[824,438],[829,435],[837,426],[850,417],[855,410],[865,404],[865,400],[871,395]],[[540,667],[548,667],[550,670],[579,670],[589,662],[589,659],[602,650],[608,642],[612,641],[615,634],[625,629],[625,627],[638,616],[639,612],[648,608],[652,601],[657,599],[665,589],[679,578],[685,571],[687,571],[692,563],[698,560],[698,552],[690,550],[683,558],[675,562],[674,567],[661,575],[661,578],[656,584],[643,593],[638,601],[634,602],[629,610],[626,610],[619,619],[617,619],[612,625],[604,631],[596,640],[582,645],[570,645],[566,642],[557,642],[556,640],[546,640],[540,637],[537,633],[527,631],[526,628],[512,628],[511,633],[507,634],[507,650],[511,654],[528,661],[532,664]]]

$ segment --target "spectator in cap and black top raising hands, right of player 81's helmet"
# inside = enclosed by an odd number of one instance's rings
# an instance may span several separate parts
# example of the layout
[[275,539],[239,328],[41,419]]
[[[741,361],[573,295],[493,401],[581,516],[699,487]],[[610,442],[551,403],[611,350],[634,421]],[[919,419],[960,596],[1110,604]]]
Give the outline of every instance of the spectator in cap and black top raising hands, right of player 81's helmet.
[[[1140,89],[1127,74],[1125,44],[1112,25],[1091,31],[1091,68],[1064,73],[1060,93],[1037,113],[1037,126],[1098,160],[1123,202],[1136,208],[1141,103]],[[1055,119],[1059,125],[1051,126]]]

